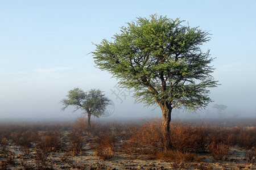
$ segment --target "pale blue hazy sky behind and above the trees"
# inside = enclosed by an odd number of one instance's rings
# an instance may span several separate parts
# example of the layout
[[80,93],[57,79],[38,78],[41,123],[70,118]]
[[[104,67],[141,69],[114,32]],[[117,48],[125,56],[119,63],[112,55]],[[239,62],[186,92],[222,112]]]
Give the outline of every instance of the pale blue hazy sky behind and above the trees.
[[230,117],[256,117],[255,9],[253,0],[0,0],[0,119],[79,116],[60,111],[60,100],[74,87],[104,91],[115,104],[113,117],[160,117],[159,108],[133,104],[127,91],[122,90],[126,98],[117,98],[117,80],[94,67],[89,54],[92,42],[111,41],[127,22],[152,14],[180,18],[212,34],[202,49],[216,57],[212,75],[221,86],[210,90],[214,103],[201,117],[217,115],[214,104],[226,105]]

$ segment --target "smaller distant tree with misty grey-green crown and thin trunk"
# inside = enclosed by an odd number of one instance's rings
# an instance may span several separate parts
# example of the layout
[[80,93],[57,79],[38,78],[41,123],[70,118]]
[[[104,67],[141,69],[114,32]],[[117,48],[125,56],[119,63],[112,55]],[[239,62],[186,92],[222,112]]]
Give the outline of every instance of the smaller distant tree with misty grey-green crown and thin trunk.
[[68,91],[67,98],[60,101],[64,105],[62,110],[67,107],[75,107],[74,111],[81,109],[88,116],[88,128],[91,128],[90,117],[100,117],[104,114],[104,111],[109,104],[110,100],[106,97],[102,91],[91,89],[88,92],[82,91],[80,88],[74,88]]

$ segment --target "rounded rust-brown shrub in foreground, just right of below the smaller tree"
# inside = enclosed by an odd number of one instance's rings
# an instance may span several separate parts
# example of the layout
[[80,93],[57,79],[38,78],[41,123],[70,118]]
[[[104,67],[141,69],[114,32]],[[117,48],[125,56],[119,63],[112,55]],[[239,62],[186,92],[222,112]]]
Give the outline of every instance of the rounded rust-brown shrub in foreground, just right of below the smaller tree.
[[110,133],[95,138],[95,155],[101,159],[111,159],[115,155],[117,140]]

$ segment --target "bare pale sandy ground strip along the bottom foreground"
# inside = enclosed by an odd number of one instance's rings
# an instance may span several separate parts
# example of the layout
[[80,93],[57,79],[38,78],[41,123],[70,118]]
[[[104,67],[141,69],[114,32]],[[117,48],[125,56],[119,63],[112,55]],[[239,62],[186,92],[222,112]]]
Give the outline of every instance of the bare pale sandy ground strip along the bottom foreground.
[[[13,152],[14,161],[4,169],[36,169],[36,152],[30,148],[30,154],[22,156],[22,147],[9,142],[6,149]],[[1,148],[3,149],[3,148]],[[84,147],[81,155],[64,156],[65,152],[49,152],[45,167],[52,169],[256,169],[255,158],[249,162],[245,160],[244,151],[238,147],[231,147],[227,161],[216,162],[209,154],[200,154],[200,162],[165,162],[163,160],[150,160],[147,155],[124,154],[122,151],[115,152],[115,156],[109,160],[99,159],[94,150],[90,149],[89,143]],[[1,163],[4,160],[0,154]]]

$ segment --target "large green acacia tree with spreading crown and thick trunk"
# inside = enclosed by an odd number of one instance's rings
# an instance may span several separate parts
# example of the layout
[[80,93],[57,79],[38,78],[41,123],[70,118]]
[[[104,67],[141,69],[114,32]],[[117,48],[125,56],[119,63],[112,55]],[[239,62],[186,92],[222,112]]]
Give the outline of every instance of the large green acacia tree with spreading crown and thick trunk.
[[113,41],[96,44],[92,52],[98,68],[109,71],[122,87],[134,90],[135,101],[159,105],[166,150],[171,147],[172,109],[204,108],[212,101],[208,88],[217,86],[210,75],[213,58],[209,50],[200,49],[209,41],[209,33],[182,23],[158,15],[137,18],[122,27]]

